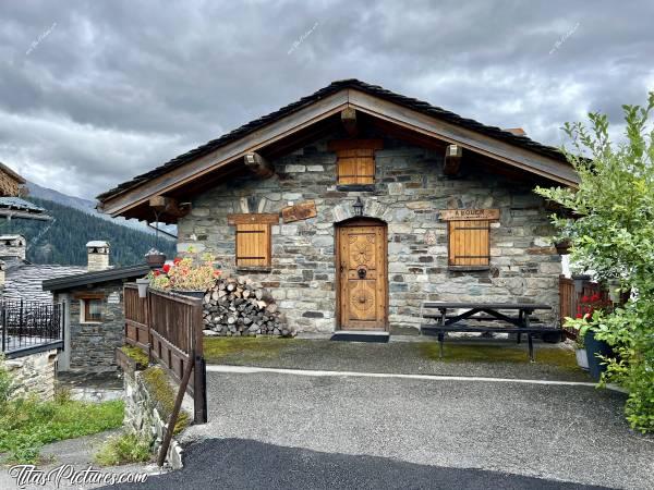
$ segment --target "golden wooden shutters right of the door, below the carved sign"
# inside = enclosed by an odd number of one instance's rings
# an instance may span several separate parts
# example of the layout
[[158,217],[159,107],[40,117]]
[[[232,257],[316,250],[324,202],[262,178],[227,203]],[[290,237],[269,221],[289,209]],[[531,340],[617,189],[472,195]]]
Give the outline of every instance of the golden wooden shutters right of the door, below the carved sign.
[[449,265],[488,266],[491,264],[489,221],[448,221]]

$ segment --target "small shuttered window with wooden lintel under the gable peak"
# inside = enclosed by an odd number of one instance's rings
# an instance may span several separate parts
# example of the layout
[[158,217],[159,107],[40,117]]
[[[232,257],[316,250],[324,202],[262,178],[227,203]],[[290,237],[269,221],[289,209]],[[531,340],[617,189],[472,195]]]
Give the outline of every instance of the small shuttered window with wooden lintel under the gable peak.
[[337,156],[337,184],[370,185],[375,183],[375,151],[383,148],[380,139],[342,139],[330,142]]

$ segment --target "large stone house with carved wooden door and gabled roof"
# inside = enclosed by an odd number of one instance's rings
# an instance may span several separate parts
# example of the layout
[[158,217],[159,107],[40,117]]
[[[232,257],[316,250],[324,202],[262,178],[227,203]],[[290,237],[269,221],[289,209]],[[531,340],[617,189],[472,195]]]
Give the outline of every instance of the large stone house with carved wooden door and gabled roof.
[[425,299],[558,311],[560,256],[536,185],[574,186],[556,148],[359,81],[328,87],[100,196],[175,223],[271,291],[298,331],[417,332]]

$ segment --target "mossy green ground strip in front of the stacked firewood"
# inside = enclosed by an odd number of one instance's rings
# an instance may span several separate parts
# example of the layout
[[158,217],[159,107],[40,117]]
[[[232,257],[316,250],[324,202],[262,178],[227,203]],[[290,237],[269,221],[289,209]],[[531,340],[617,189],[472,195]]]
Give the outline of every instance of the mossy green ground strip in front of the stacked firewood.
[[211,336],[205,338],[203,342],[206,362],[220,364],[233,355],[247,356],[253,360],[274,358],[282,348],[289,346],[290,342],[296,343],[298,340],[276,336]]

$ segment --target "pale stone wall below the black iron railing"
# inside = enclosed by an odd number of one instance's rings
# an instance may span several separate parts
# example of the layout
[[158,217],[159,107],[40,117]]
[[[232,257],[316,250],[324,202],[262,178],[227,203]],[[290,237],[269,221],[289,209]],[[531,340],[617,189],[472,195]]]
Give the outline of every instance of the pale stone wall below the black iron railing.
[[35,395],[44,401],[55,399],[56,363],[55,348],[5,360],[15,389],[12,397]]

